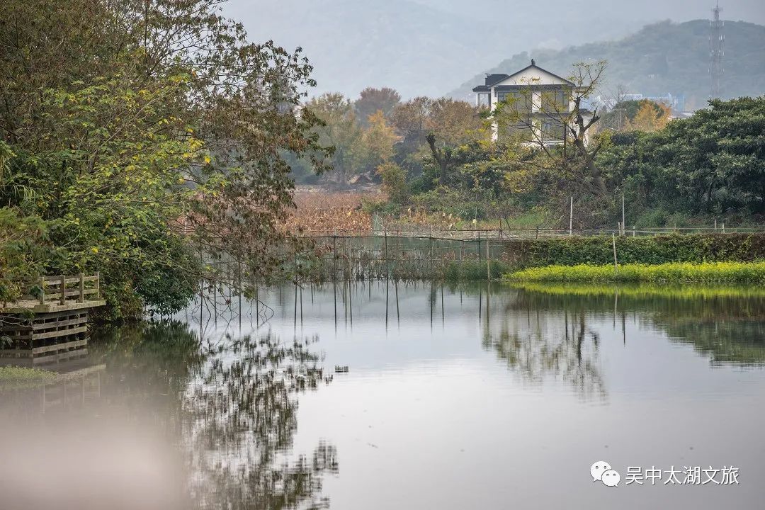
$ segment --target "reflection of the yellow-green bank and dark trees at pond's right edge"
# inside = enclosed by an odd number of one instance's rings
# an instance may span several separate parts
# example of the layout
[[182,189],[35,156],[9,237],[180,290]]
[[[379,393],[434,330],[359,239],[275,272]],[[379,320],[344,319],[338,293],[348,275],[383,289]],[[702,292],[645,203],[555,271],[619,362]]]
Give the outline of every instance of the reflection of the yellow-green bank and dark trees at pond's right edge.
[[[713,365],[765,365],[765,295],[737,287],[585,287],[535,285],[523,300],[542,310],[588,310],[623,320],[629,314],[692,345]],[[588,292],[589,291],[589,292]],[[618,318],[617,318],[618,317]]]

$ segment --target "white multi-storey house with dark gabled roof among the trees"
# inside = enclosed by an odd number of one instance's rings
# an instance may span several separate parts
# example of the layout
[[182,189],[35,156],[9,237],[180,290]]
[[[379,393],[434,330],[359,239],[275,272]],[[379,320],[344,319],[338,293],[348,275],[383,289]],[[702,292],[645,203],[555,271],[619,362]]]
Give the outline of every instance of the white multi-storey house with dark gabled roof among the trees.
[[[521,135],[527,143],[558,145],[564,141],[564,123],[574,109],[572,93],[576,84],[531,65],[513,74],[487,74],[483,85],[473,89],[476,106],[495,112],[501,102],[513,109],[515,122],[500,127],[493,122],[493,140],[504,135]],[[582,111],[586,116],[590,112]]]

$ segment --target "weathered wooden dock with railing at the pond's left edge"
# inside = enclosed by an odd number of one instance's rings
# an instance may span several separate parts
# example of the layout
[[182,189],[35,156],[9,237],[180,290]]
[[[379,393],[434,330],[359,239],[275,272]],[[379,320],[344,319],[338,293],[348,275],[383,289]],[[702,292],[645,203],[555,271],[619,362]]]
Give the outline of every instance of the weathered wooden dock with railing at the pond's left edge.
[[106,304],[99,274],[45,276],[0,307],[0,364],[50,365],[87,354],[88,311]]

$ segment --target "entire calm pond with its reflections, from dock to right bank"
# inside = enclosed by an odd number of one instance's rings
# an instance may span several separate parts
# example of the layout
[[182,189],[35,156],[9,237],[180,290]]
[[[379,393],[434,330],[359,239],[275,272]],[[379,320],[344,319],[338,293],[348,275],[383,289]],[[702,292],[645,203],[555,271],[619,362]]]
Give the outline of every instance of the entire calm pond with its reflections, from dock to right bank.
[[376,281],[259,298],[98,332],[88,375],[0,391],[3,508],[765,496],[760,289]]

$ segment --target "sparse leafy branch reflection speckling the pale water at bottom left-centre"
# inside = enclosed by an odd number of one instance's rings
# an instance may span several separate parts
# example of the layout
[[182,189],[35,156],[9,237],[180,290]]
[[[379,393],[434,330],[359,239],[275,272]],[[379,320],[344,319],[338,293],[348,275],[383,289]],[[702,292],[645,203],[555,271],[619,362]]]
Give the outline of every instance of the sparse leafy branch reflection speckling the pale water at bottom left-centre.
[[298,426],[295,394],[323,382],[308,346],[270,334],[205,346],[207,363],[183,398],[200,508],[328,507],[318,495],[322,474],[337,473],[334,447],[319,444],[310,460],[284,456]]

